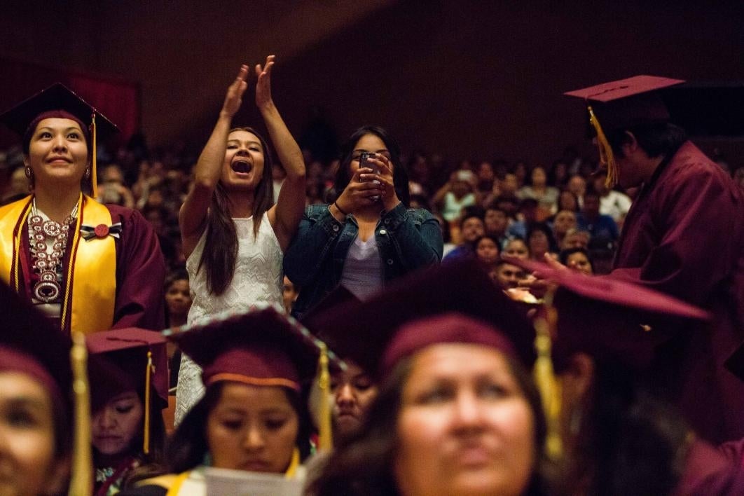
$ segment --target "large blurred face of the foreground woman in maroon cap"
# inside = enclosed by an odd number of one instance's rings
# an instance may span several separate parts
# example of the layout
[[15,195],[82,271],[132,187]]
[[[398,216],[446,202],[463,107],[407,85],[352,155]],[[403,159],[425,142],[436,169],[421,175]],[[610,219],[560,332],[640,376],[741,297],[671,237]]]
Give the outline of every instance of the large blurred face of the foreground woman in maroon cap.
[[533,413],[507,359],[473,344],[414,355],[397,439],[406,496],[520,495],[536,462]]

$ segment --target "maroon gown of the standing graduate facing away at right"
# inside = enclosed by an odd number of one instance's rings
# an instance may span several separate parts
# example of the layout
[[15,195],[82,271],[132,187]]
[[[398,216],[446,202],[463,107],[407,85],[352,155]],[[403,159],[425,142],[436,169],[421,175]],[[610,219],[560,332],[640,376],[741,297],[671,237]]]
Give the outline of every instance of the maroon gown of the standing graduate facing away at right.
[[711,323],[667,329],[652,376],[714,444],[744,437],[744,383],[724,361],[744,339],[744,194],[694,144],[662,162],[633,202],[609,277],[679,297]]

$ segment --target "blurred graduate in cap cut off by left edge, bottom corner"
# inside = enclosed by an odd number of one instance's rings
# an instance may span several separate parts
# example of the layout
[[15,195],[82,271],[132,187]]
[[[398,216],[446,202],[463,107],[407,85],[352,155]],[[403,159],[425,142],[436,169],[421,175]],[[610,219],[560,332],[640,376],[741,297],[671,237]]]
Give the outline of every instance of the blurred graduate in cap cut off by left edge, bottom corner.
[[56,495],[70,474],[70,338],[0,283],[0,493]]

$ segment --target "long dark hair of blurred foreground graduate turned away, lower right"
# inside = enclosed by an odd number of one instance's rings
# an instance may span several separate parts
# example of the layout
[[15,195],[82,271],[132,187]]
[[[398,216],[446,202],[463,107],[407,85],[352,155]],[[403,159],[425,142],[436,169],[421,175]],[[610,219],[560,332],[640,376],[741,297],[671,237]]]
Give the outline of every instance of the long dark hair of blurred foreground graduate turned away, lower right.
[[687,455],[682,417],[617,361],[595,363],[590,394],[567,488],[591,474],[590,495],[670,494]]

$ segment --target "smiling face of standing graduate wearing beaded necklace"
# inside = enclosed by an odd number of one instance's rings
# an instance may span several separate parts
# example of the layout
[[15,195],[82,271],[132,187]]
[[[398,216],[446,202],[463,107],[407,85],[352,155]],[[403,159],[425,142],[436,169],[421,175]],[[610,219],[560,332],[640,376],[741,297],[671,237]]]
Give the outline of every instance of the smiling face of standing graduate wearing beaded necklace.
[[88,145],[80,124],[62,117],[40,120],[31,135],[26,161],[37,186],[80,188],[88,165]]

